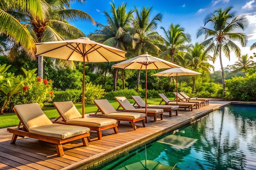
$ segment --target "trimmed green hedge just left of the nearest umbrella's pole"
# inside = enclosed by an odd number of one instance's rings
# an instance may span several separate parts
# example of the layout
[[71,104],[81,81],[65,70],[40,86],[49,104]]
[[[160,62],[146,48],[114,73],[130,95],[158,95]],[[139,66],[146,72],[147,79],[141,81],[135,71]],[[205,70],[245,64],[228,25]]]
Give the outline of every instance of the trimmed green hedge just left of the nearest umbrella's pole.
[[67,89],[66,91],[54,91],[54,95],[54,102],[72,101],[76,103],[82,100],[82,90]]

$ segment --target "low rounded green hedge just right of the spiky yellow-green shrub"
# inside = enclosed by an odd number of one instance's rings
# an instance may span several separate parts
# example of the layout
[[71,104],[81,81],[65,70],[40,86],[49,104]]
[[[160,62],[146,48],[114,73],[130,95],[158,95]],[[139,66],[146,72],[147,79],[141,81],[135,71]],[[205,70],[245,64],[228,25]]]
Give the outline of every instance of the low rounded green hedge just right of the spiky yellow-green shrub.
[[119,91],[111,91],[106,93],[104,99],[115,100],[116,96],[124,96],[127,99],[131,99],[131,96],[137,96],[139,93],[135,89],[124,89]]

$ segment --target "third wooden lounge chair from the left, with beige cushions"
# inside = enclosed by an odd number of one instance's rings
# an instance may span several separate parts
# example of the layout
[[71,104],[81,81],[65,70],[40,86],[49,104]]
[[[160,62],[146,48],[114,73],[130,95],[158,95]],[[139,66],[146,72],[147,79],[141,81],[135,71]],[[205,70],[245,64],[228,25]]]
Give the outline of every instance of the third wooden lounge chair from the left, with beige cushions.
[[[141,121],[143,127],[145,127],[145,117],[144,113],[133,113],[133,112],[117,112],[115,108],[108,102],[107,99],[98,99],[94,100],[94,103],[98,107],[98,110],[95,114],[90,114],[92,117],[103,117],[103,118],[112,118],[117,121],[128,121],[132,124],[133,130],[137,129],[135,124],[136,121]],[[99,113],[101,111],[101,113]]]

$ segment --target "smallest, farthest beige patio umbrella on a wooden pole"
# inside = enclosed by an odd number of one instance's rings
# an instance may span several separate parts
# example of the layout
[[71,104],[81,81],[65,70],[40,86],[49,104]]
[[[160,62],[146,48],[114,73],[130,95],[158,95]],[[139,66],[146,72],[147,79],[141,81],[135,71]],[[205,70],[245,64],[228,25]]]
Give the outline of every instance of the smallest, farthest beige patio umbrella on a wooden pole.
[[[165,77],[176,76],[176,91],[178,93],[178,76],[179,75],[197,75],[197,74],[202,74],[202,73],[198,73],[196,71],[180,67],[180,68],[170,68],[168,70],[161,71],[161,72],[155,73],[153,75],[165,76]],[[176,100],[176,102],[178,104],[178,100]]]

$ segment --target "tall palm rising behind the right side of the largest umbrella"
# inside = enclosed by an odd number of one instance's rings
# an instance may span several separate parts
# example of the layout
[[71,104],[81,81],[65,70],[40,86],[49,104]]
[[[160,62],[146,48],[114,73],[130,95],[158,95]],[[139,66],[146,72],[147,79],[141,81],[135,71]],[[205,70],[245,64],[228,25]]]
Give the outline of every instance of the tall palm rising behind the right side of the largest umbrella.
[[[89,37],[92,40],[127,51],[127,48],[129,46],[132,47],[133,44],[131,35],[134,31],[130,27],[130,21],[132,20],[132,12],[134,10],[126,12],[126,3],[118,6],[117,9],[115,8],[114,1],[113,4],[110,3],[110,5],[111,15],[106,11],[103,12],[107,18],[108,25],[97,23],[99,29],[97,29],[95,33],[91,33]],[[114,91],[116,91],[117,88],[117,73],[118,69],[115,68],[113,75]]]

